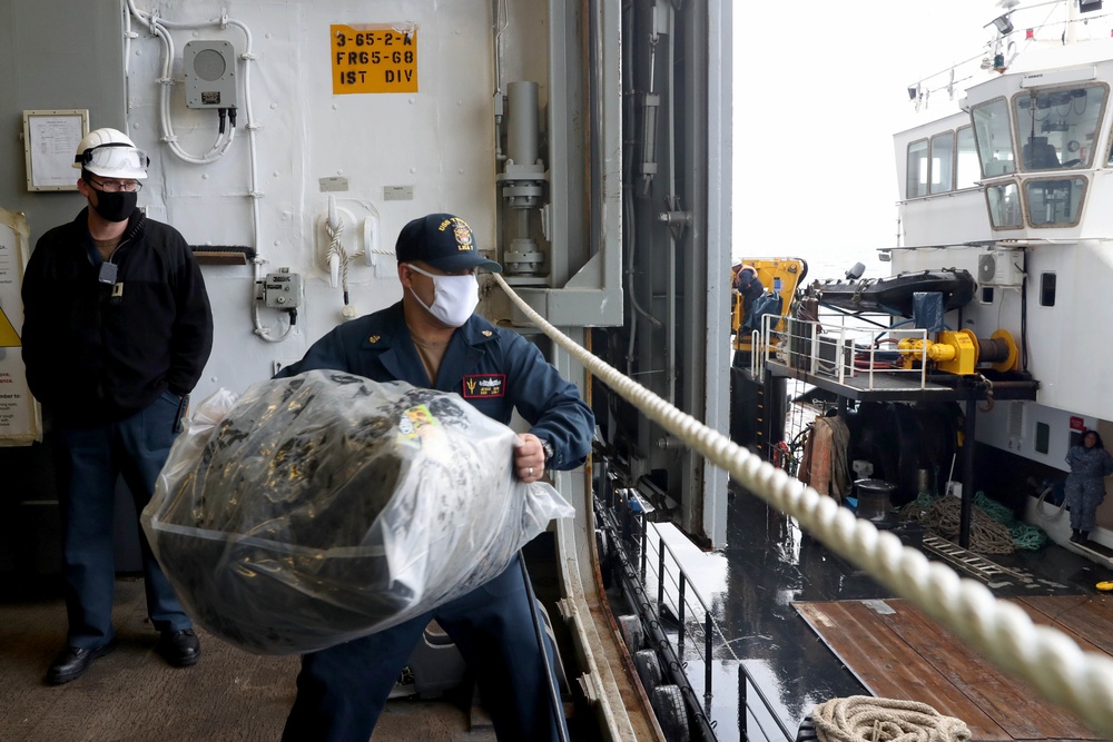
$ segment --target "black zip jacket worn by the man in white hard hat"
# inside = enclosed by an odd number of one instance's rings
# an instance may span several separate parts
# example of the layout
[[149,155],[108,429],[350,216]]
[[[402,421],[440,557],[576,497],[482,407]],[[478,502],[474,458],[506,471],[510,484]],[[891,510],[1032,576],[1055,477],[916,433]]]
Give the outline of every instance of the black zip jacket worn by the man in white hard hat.
[[85,209],[39,238],[27,265],[27,383],[61,425],[116,422],[166,389],[187,394],[213,349],[205,281],[174,227],[136,211],[111,263],[116,280],[101,283]]

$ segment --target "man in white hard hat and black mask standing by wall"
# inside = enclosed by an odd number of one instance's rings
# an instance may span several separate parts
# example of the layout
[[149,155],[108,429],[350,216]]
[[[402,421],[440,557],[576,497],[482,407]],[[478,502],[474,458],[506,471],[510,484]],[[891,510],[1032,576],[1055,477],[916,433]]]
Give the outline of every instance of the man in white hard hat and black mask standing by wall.
[[[121,131],[86,136],[73,167],[88,208],[39,238],[23,277],[23,364],[52,435],[62,514],[69,630],[51,684],[76,680],[116,644],[116,482],[124,477],[141,512],[213,347],[189,246],[136,208],[147,165]],[[191,665],[200,656],[193,622],[139,538],[156,649],[174,666]]]

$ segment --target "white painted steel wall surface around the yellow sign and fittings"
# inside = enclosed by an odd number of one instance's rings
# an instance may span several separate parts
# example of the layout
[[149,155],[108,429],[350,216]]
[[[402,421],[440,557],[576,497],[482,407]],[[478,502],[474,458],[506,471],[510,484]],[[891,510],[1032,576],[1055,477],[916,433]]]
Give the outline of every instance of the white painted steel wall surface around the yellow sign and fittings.
[[[152,217],[175,225],[190,244],[250,246],[265,260],[264,273],[288,267],[304,279],[305,300],[297,325],[284,342],[267,343],[253,333],[253,267],[204,267],[217,333],[211,359],[195,392],[198,399],[219,387],[242,392],[269,377],[275,362],[299,358],[313,340],[343,321],[342,293],[329,286],[324,258],[328,237],[322,224],[328,192],[322,190],[321,179],[347,179],[347,190],[333,195],[342,216],[355,221],[346,225],[348,251],[365,247],[359,227],[368,217],[377,217],[378,246],[390,251],[406,221],[431,211],[464,217],[480,248],[494,247],[495,85],[490,2],[190,0],[152,4],[136,0],[136,7],[142,12],[157,10],[167,24],[219,19],[226,10],[228,18],[249,29],[255,57],[247,62],[246,91],[245,63],[237,68],[240,99],[236,137],[228,154],[211,165],[187,164],[159,141],[162,49],[132,19],[137,38],[127,56],[128,125],[139,146],[151,152],[150,177],[140,204]],[[504,38],[506,79],[515,79],[508,75],[522,73],[524,59],[540,59],[543,69],[548,42],[543,24],[530,22],[536,20],[530,16],[534,12],[515,4],[512,22],[516,32]],[[417,29],[417,92],[333,93],[331,24],[411,23]],[[179,83],[170,89],[173,128],[183,149],[200,155],[216,138],[217,115],[187,109],[184,102],[181,50],[195,39],[230,41],[237,55],[247,51],[247,40],[235,26],[174,30],[173,69]],[[544,98],[543,90],[542,105]],[[248,196],[253,189],[250,123],[256,127],[258,235]],[[412,200],[386,200],[384,189],[391,187],[411,188]],[[374,263],[356,260],[349,271],[351,300],[358,314],[401,297],[393,257],[376,256]],[[276,310],[264,308],[262,320],[280,335],[283,325]]]

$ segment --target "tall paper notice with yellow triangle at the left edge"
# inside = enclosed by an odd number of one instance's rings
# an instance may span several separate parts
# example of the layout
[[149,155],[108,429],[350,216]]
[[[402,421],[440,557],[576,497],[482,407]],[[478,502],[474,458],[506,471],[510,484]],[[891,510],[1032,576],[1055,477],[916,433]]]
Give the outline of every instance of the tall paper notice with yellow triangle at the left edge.
[[23,303],[19,288],[27,265],[27,220],[0,209],[0,446],[30,445],[41,439],[39,405],[23,374]]

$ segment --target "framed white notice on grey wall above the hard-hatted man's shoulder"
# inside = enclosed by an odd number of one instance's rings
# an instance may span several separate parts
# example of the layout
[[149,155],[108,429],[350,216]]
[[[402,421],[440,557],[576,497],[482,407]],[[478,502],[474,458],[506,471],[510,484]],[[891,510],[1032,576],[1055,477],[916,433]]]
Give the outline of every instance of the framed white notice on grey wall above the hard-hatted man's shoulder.
[[73,155],[89,133],[88,109],[23,111],[28,190],[77,190]]

